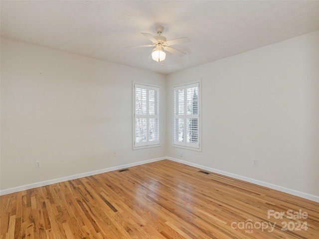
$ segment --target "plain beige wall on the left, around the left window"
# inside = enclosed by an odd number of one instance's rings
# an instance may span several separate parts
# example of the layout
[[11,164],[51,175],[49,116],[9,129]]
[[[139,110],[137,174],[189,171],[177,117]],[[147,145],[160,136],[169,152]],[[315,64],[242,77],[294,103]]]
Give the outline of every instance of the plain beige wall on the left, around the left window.
[[164,107],[164,75],[1,38],[0,76],[1,190],[165,155],[132,150],[132,81],[160,85]]

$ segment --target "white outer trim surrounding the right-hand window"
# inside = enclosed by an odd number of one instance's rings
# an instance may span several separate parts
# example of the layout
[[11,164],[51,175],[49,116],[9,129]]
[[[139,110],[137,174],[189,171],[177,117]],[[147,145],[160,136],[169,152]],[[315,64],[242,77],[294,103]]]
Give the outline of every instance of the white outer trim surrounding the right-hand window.
[[[184,89],[185,86],[191,86],[191,85],[197,85],[198,84],[198,147],[193,147],[193,145],[191,143],[187,143],[185,142],[184,145],[181,144],[176,144],[175,142],[175,104],[174,104],[174,94],[175,94],[175,90],[179,89]],[[190,150],[194,150],[194,151],[201,151],[201,80],[197,80],[197,81],[191,81],[191,82],[186,82],[186,83],[182,83],[182,84],[178,84],[178,85],[174,85],[172,87],[172,100],[173,100],[173,123],[172,123],[172,127],[173,127],[173,143],[172,146],[173,147],[177,147],[177,148],[184,148],[184,149],[190,149]]]

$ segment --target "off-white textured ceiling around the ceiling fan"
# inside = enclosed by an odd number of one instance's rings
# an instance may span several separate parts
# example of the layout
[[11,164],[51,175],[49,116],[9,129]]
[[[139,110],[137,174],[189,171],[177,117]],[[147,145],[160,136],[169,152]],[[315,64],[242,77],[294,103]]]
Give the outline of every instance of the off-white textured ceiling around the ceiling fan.
[[[3,1],[1,35],[169,74],[319,29],[319,1]],[[141,32],[187,36],[158,63]]]

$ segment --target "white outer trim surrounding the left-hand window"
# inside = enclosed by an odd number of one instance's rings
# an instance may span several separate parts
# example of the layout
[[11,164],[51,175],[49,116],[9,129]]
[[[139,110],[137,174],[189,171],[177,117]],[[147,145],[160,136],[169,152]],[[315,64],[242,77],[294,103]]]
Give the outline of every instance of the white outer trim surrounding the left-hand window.
[[[136,129],[135,129],[135,119],[136,119],[136,116],[135,116],[135,104],[136,104],[136,99],[135,99],[135,87],[136,85],[140,85],[140,86],[143,86],[143,87],[146,87],[148,89],[157,89],[159,90],[159,116],[158,116],[158,119],[159,119],[159,140],[157,141],[148,141],[148,142],[145,142],[145,143],[139,143],[139,145],[136,145]],[[143,148],[151,148],[151,147],[160,147],[161,146],[161,139],[160,139],[160,115],[161,115],[161,105],[160,105],[160,94],[161,94],[161,88],[160,88],[160,85],[154,85],[154,84],[149,84],[149,83],[145,83],[145,82],[137,82],[137,81],[133,81],[133,107],[132,107],[132,112],[133,112],[133,150],[135,149],[143,149]],[[148,117],[147,117],[148,118]],[[148,118],[149,119],[149,118]]]

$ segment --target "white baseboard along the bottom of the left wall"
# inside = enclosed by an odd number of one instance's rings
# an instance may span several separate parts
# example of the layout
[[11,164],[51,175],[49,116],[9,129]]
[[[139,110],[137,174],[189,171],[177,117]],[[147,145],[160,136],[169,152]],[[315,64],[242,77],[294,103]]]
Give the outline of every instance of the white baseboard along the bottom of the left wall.
[[124,165],[119,165],[116,167],[104,168],[104,169],[100,169],[100,170],[96,170],[96,171],[80,173],[80,174],[71,175],[71,176],[67,176],[67,177],[51,179],[51,180],[47,180],[47,181],[43,181],[43,182],[22,185],[22,186],[14,187],[14,188],[8,188],[8,189],[0,190],[0,195],[20,192],[20,191],[28,190],[31,188],[37,188],[37,187],[42,187],[42,186],[46,186],[46,185],[50,185],[50,184],[54,184],[54,183],[65,182],[65,181],[72,180],[72,179],[83,178],[83,177],[92,176],[92,175],[96,175],[96,174],[100,174],[100,173],[106,173],[106,172],[115,171],[115,170],[119,170],[119,169],[123,169],[123,168],[129,168],[129,167],[133,167],[133,166],[137,166],[137,165],[141,165],[141,164],[152,163],[152,162],[160,161],[160,160],[163,160],[166,158],[167,157],[154,158],[154,159],[139,161],[136,163],[129,163],[129,164],[124,164]]

